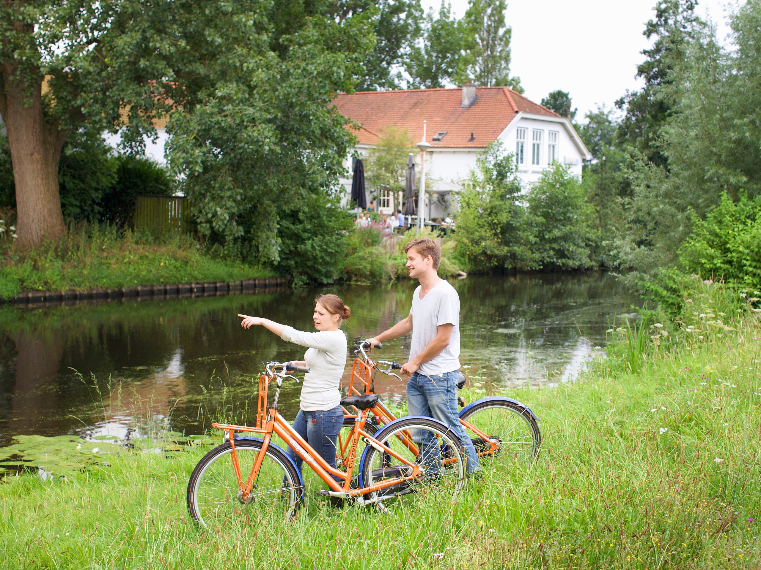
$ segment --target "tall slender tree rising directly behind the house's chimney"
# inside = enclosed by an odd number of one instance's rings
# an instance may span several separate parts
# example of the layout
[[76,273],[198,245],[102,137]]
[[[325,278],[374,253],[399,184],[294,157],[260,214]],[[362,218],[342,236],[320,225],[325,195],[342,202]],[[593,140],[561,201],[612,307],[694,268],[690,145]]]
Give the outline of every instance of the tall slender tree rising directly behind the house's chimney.
[[505,85],[523,92],[521,78],[510,77],[512,28],[505,22],[505,0],[469,0],[463,17],[464,47],[460,78],[482,87]]

